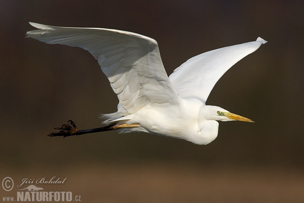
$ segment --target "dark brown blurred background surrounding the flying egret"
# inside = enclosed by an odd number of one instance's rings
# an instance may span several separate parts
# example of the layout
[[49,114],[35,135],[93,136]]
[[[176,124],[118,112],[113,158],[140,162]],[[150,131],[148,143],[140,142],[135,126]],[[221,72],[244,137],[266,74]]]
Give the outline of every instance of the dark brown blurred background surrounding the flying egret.
[[[1,181],[67,177],[45,189],[83,202],[303,202],[303,10],[303,1],[1,0]],[[261,37],[269,43],[207,101],[255,123],[221,122],[206,146],[139,133],[49,138],[69,119],[99,127],[118,99],[93,56],[25,38],[35,29],[28,21],[151,37],[168,75],[195,55]]]

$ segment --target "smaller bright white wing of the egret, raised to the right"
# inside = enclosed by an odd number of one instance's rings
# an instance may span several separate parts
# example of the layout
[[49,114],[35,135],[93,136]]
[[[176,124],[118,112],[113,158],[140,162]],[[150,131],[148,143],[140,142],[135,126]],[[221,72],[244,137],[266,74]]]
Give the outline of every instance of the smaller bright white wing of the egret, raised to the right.
[[215,49],[181,64],[169,76],[180,97],[196,97],[206,100],[216,82],[239,60],[267,43],[262,38],[254,42]]

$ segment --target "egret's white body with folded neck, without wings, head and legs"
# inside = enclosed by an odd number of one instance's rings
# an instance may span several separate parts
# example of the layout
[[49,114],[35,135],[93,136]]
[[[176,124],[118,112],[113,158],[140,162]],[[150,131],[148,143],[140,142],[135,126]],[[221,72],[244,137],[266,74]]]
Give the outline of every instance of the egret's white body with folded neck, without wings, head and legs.
[[208,144],[217,137],[218,122],[206,120],[204,117],[199,119],[204,107],[206,107],[205,104],[196,98],[182,98],[178,106],[169,104],[146,105],[137,112],[122,117],[122,120],[118,119],[120,120],[118,123],[140,123],[141,127],[120,128],[119,131],[143,131],[180,138],[195,144]]

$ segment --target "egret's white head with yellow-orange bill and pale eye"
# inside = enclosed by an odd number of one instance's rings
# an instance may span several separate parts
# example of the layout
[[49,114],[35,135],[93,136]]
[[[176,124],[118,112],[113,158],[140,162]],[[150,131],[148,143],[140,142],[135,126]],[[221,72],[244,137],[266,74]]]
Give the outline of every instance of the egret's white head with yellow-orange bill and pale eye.
[[223,108],[216,107],[216,106],[205,106],[204,110],[204,117],[207,120],[218,120],[218,121],[245,121],[245,122],[254,122],[249,118],[245,118],[243,116],[231,113]]

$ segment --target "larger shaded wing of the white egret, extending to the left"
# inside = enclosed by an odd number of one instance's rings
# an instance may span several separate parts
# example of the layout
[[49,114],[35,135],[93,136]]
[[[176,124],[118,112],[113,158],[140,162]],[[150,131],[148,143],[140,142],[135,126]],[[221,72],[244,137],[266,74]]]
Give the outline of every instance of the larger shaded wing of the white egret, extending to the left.
[[155,40],[115,29],[30,24],[39,28],[27,32],[30,38],[88,50],[117,94],[120,112],[131,114],[147,103],[179,104]]

